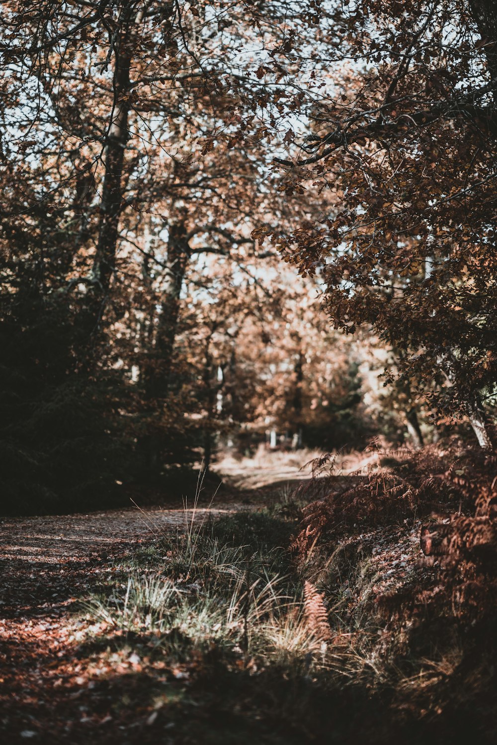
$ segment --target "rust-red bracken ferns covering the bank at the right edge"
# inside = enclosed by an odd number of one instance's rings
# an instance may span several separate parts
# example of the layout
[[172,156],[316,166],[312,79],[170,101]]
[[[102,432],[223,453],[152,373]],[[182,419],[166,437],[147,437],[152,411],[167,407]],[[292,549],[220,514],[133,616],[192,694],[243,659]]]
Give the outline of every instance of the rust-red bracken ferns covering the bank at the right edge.
[[[294,547],[306,556],[351,527],[424,515],[425,557],[416,577],[377,597],[376,607],[387,624],[405,624],[411,633],[425,621],[475,633],[497,609],[496,456],[462,448],[457,440],[403,456],[388,466],[379,458],[376,471],[367,475],[326,477],[328,489],[304,510]],[[347,478],[352,484],[344,486]],[[314,478],[309,488],[323,489],[323,483]]]

